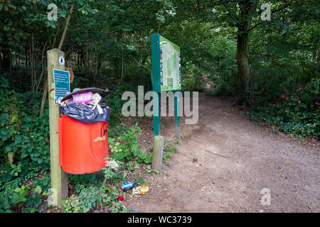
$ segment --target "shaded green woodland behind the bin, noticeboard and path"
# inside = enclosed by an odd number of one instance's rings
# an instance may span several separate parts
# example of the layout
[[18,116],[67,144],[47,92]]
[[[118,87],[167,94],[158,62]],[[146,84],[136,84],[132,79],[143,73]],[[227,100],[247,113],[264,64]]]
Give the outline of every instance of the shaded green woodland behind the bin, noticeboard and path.
[[[57,21],[48,21],[51,3]],[[270,21],[260,18],[265,3]],[[117,123],[122,92],[151,89],[152,33],[181,46],[184,91],[234,97],[274,133],[319,138],[319,9],[319,1],[293,0],[2,0],[2,162],[46,160],[47,50],[65,52],[72,88],[110,89]]]

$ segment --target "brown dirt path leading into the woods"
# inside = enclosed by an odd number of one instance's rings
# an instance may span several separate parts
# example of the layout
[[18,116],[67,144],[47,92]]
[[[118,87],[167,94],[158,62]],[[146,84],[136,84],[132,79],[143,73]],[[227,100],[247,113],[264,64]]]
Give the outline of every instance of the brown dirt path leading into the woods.
[[[142,138],[146,146],[150,130]],[[185,125],[181,119],[181,133],[170,166],[147,177],[150,192],[128,196],[129,207],[141,212],[320,211],[319,143],[272,134],[239,116],[228,101],[206,94],[199,94],[198,123]],[[161,134],[174,135],[173,118],[164,118]],[[270,189],[271,204],[262,206],[264,188]]]

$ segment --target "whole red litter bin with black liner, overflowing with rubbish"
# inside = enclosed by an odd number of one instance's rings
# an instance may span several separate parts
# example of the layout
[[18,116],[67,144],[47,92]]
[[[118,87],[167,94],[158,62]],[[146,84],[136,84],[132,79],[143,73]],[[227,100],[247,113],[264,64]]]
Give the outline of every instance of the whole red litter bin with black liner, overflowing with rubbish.
[[82,175],[105,167],[110,110],[101,97],[103,92],[97,88],[74,89],[60,102],[59,165],[65,172]]

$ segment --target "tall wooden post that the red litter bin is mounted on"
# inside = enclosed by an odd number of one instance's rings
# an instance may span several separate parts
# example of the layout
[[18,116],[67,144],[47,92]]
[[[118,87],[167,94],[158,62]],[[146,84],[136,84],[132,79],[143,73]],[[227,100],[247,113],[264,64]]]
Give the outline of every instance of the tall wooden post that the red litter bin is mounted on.
[[65,53],[58,49],[48,50],[48,99],[50,122],[50,171],[51,192],[55,196],[53,204],[60,206],[61,201],[68,198],[68,175],[59,165],[59,135],[58,118],[59,107],[54,104],[55,84],[53,82],[53,69],[65,70],[64,63],[59,62],[59,57],[64,58]]

